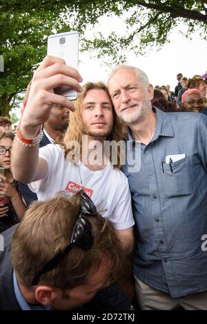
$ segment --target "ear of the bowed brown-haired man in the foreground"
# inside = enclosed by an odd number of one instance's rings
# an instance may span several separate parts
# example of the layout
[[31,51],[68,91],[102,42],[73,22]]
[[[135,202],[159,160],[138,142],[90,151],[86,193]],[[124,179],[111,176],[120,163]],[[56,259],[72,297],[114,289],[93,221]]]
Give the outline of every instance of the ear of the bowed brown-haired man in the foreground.
[[42,305],[52,305],[53,301],[59,297],[59,291],[53,287],[39,285],[35,290],[35,298]]

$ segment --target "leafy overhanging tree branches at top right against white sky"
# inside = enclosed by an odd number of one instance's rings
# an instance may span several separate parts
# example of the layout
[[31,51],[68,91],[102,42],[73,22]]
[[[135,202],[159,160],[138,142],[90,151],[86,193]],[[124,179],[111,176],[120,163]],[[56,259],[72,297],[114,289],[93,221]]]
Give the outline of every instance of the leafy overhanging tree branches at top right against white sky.
[[[128,0],[113,1],[108,15],[119,16],[121,33],[113,30],[106,35],[97,32],[84,43],[84,49],[98,53],[99,57],[112,57],[113,63],[126,61],[123,52],[144,54],[155,45],[157,49],[170,41],[172,28],[186,26],[182,34],[190,38],[199,30],[202,39],[207,38],[207,1],[204,0]],[[124,30],[124,32],[123,32]],[[95,51],[97,50],[97,51]]]

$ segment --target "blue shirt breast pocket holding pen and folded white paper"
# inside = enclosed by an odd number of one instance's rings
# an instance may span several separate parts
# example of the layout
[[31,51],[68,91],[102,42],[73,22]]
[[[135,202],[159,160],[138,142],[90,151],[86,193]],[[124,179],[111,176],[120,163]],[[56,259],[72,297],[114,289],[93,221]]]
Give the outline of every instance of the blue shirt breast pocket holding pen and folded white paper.
[[188,157],[174,163],[163,163],[161,182],[167,197],[193,194],[195,185]]

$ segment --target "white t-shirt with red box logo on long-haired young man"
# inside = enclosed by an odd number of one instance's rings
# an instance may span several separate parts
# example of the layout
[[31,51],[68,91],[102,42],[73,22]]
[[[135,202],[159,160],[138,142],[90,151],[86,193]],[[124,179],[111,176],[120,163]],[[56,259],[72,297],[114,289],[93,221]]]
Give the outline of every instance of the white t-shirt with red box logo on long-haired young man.
[[62,190],[75,194],[82,188],[96,206],[106,210],[103,216],[114,223],[117,230],[126,230],[134,225],[128,179],[120,170],[106,165],[103,170],[92,171],[86,165],[78,166],[67,161],[64,150],[57,144],[48,144],[39,150],[39,157],[48,163],[48,172],[43,179],[28,186],[37,193],[39,201],[46,201]]

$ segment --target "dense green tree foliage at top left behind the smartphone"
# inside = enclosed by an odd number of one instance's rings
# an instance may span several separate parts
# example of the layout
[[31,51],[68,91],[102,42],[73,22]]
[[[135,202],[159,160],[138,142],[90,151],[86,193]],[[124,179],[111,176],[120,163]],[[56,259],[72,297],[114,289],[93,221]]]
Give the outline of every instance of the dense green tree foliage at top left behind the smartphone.
[[[61,3],[62,2],[62,3]],[[70,1],[0,1],[0,111],[8,115],[17,94],[26,90],[37,64],[46,55],[48,34],[82,27]],[[74,1],[75,3],[75,1]]]

